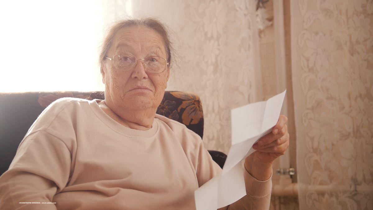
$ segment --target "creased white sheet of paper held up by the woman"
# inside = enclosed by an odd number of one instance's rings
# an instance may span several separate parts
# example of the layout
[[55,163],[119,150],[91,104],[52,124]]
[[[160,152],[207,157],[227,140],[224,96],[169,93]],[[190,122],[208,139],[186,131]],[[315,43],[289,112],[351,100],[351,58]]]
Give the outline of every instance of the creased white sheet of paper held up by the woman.
[[232,146],[222,173],[194,191],[197,210],[216,210],[246,195],[241,161],[253,153],[254,143],[276,125],[286,90],[267,101],[231,110]]

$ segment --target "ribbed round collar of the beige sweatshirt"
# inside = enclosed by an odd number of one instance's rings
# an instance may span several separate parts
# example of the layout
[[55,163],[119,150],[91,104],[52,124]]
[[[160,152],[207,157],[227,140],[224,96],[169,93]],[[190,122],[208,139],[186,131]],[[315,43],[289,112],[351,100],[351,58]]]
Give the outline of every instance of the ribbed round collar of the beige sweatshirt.
[[151,137],[156,134],[158,131],[158,123],[156,121],[156,118],[153,120],[153,127],[149,130],[136,130],[131,129],[129,127],[123,126],[122,124],[115,121],[113,118],[111,118],[109,115],[107,115],[98,105],[98,102],[103,101],[100,99],[93,99],[91,101],[88,101],[88,104],[90,105],[92,111],[94,114],[101,120],[103,123],[105,123],[108,127],[110,127],[112,130],[114,130],[117,133],[120,133],[124,136],[128,137]]

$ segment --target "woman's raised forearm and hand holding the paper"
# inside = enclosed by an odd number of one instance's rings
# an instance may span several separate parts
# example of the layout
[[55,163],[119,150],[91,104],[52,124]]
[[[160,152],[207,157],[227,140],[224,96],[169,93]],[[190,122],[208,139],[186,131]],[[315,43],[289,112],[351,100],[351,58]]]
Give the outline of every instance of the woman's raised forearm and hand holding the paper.
[[280,115],[272,132],[253,145],[256,149],[245,158],[245,187],[247,195],[221,209],[269,209],[272,190],[272,163],[289,147],[288,118]]

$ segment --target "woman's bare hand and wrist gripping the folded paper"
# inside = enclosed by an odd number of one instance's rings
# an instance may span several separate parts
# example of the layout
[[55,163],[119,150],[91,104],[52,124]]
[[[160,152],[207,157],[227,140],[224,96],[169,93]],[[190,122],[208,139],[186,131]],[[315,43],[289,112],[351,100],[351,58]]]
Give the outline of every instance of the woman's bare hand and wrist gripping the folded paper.
[[258,180],[267,180],[272,175],[273,161],[285,154],[289,147],[288,118],[280,115],[277,124],[269,133],[253,145],[257,151],[245,158],[245,168]]

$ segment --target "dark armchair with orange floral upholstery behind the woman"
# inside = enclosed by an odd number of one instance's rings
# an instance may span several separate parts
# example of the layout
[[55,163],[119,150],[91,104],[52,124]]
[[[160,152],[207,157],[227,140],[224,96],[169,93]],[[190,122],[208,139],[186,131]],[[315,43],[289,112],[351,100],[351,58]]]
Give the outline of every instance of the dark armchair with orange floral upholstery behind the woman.
[[[104,99],[103,92],[27,92],[0,93],[0,175],[12,162],[19,143],[38,115],[53,101],[64,98]],[[194,93],[166,91],[157,114],[185,124],[203,137],[203,110]],[[223,166],[226,155],[209,151],[213,160]]]

